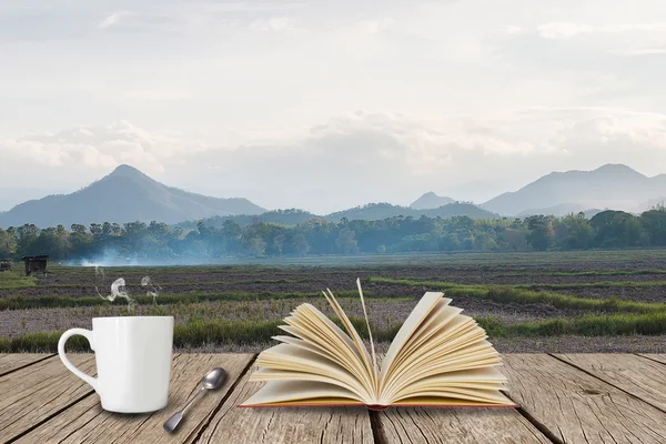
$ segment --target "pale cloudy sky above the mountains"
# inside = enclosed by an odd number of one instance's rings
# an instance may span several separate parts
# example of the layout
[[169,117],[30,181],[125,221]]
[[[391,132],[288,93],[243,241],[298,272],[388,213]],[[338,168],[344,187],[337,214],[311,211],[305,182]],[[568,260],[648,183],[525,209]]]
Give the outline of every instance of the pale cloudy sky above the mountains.
[[0,0],[0,210],[123,163],[316,213],[656,175],[664,78],[663,0]]

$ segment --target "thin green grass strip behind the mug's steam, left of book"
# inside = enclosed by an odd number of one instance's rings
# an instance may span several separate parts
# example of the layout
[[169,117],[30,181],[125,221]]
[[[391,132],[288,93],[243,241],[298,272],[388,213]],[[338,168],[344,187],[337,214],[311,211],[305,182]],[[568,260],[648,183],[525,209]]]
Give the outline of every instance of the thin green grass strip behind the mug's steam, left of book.
[[[363,292],[366,297],[374,297],[372,292]],[[153,300],[152,296],[132,296],[139,305],[171,305],[171,304],[193,304],[199,302],[215,301],[262,301],[262,300],[289,300],[289,299],[313,299],[321,297],[321,293],[181,293],[181,294],[160,294]],[[359,297],[355,290],[335,292],[340,299]],[[13,296],[0,299],[0,311],[2,310],[26,310],[26,309],[51,309],[51,307],[73,307],[73,306],[104,306],[104,305],[127,305],[123,299],[117,299],[109,302],[99,296],[71,297],[71,296],[40,296],[26,297]]]

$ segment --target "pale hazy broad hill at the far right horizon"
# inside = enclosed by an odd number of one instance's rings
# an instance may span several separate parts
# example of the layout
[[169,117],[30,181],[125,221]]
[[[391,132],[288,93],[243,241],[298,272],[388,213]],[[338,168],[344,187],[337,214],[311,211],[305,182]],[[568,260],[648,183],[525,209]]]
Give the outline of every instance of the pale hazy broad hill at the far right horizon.
[[553,172],[481,206],[503,215],[562,204],[636,211],[640,202],[664,195],[665,186],[665,174],[648,178],[623,164],[606,164],[594,171]]

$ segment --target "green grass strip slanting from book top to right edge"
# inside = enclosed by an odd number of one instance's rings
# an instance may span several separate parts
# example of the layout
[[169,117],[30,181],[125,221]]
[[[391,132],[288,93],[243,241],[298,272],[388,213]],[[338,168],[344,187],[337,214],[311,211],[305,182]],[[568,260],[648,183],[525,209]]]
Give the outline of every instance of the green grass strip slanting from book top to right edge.
[[498,303],[548,304],[562,310],[586,310],[617,313],[666,313],[666,304],[623,301],[612,299],[587,299],[551,292],[535,292],[516,286],[463,285],[438,281],[414,281],[407,279],[369,278],[366,282],[391,283],[444,290],[450,297],[478,297]]

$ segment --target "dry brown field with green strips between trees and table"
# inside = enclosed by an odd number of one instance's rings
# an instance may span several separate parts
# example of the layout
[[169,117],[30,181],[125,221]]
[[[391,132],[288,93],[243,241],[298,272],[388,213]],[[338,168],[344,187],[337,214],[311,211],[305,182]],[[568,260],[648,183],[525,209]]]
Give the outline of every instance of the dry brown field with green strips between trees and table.
[[[505,352],[666,352],[666,250],[478,253],[258,260],[206,266],[51,266],[47,278],[0,273],[0,351],[53,350],[59,332],[91,319],[172,314],[176,346],[260,350],[302,302],[330,313],[321,290],[361,316],[355,280],[385,346],[418,297],[442,290]],[[160,287],[153,301],[141,279]],[[131,311],[107,295],[124,278]],[[95,290],[97,286],[97,290]],[[84,346],[81,345],[81,346]]]

